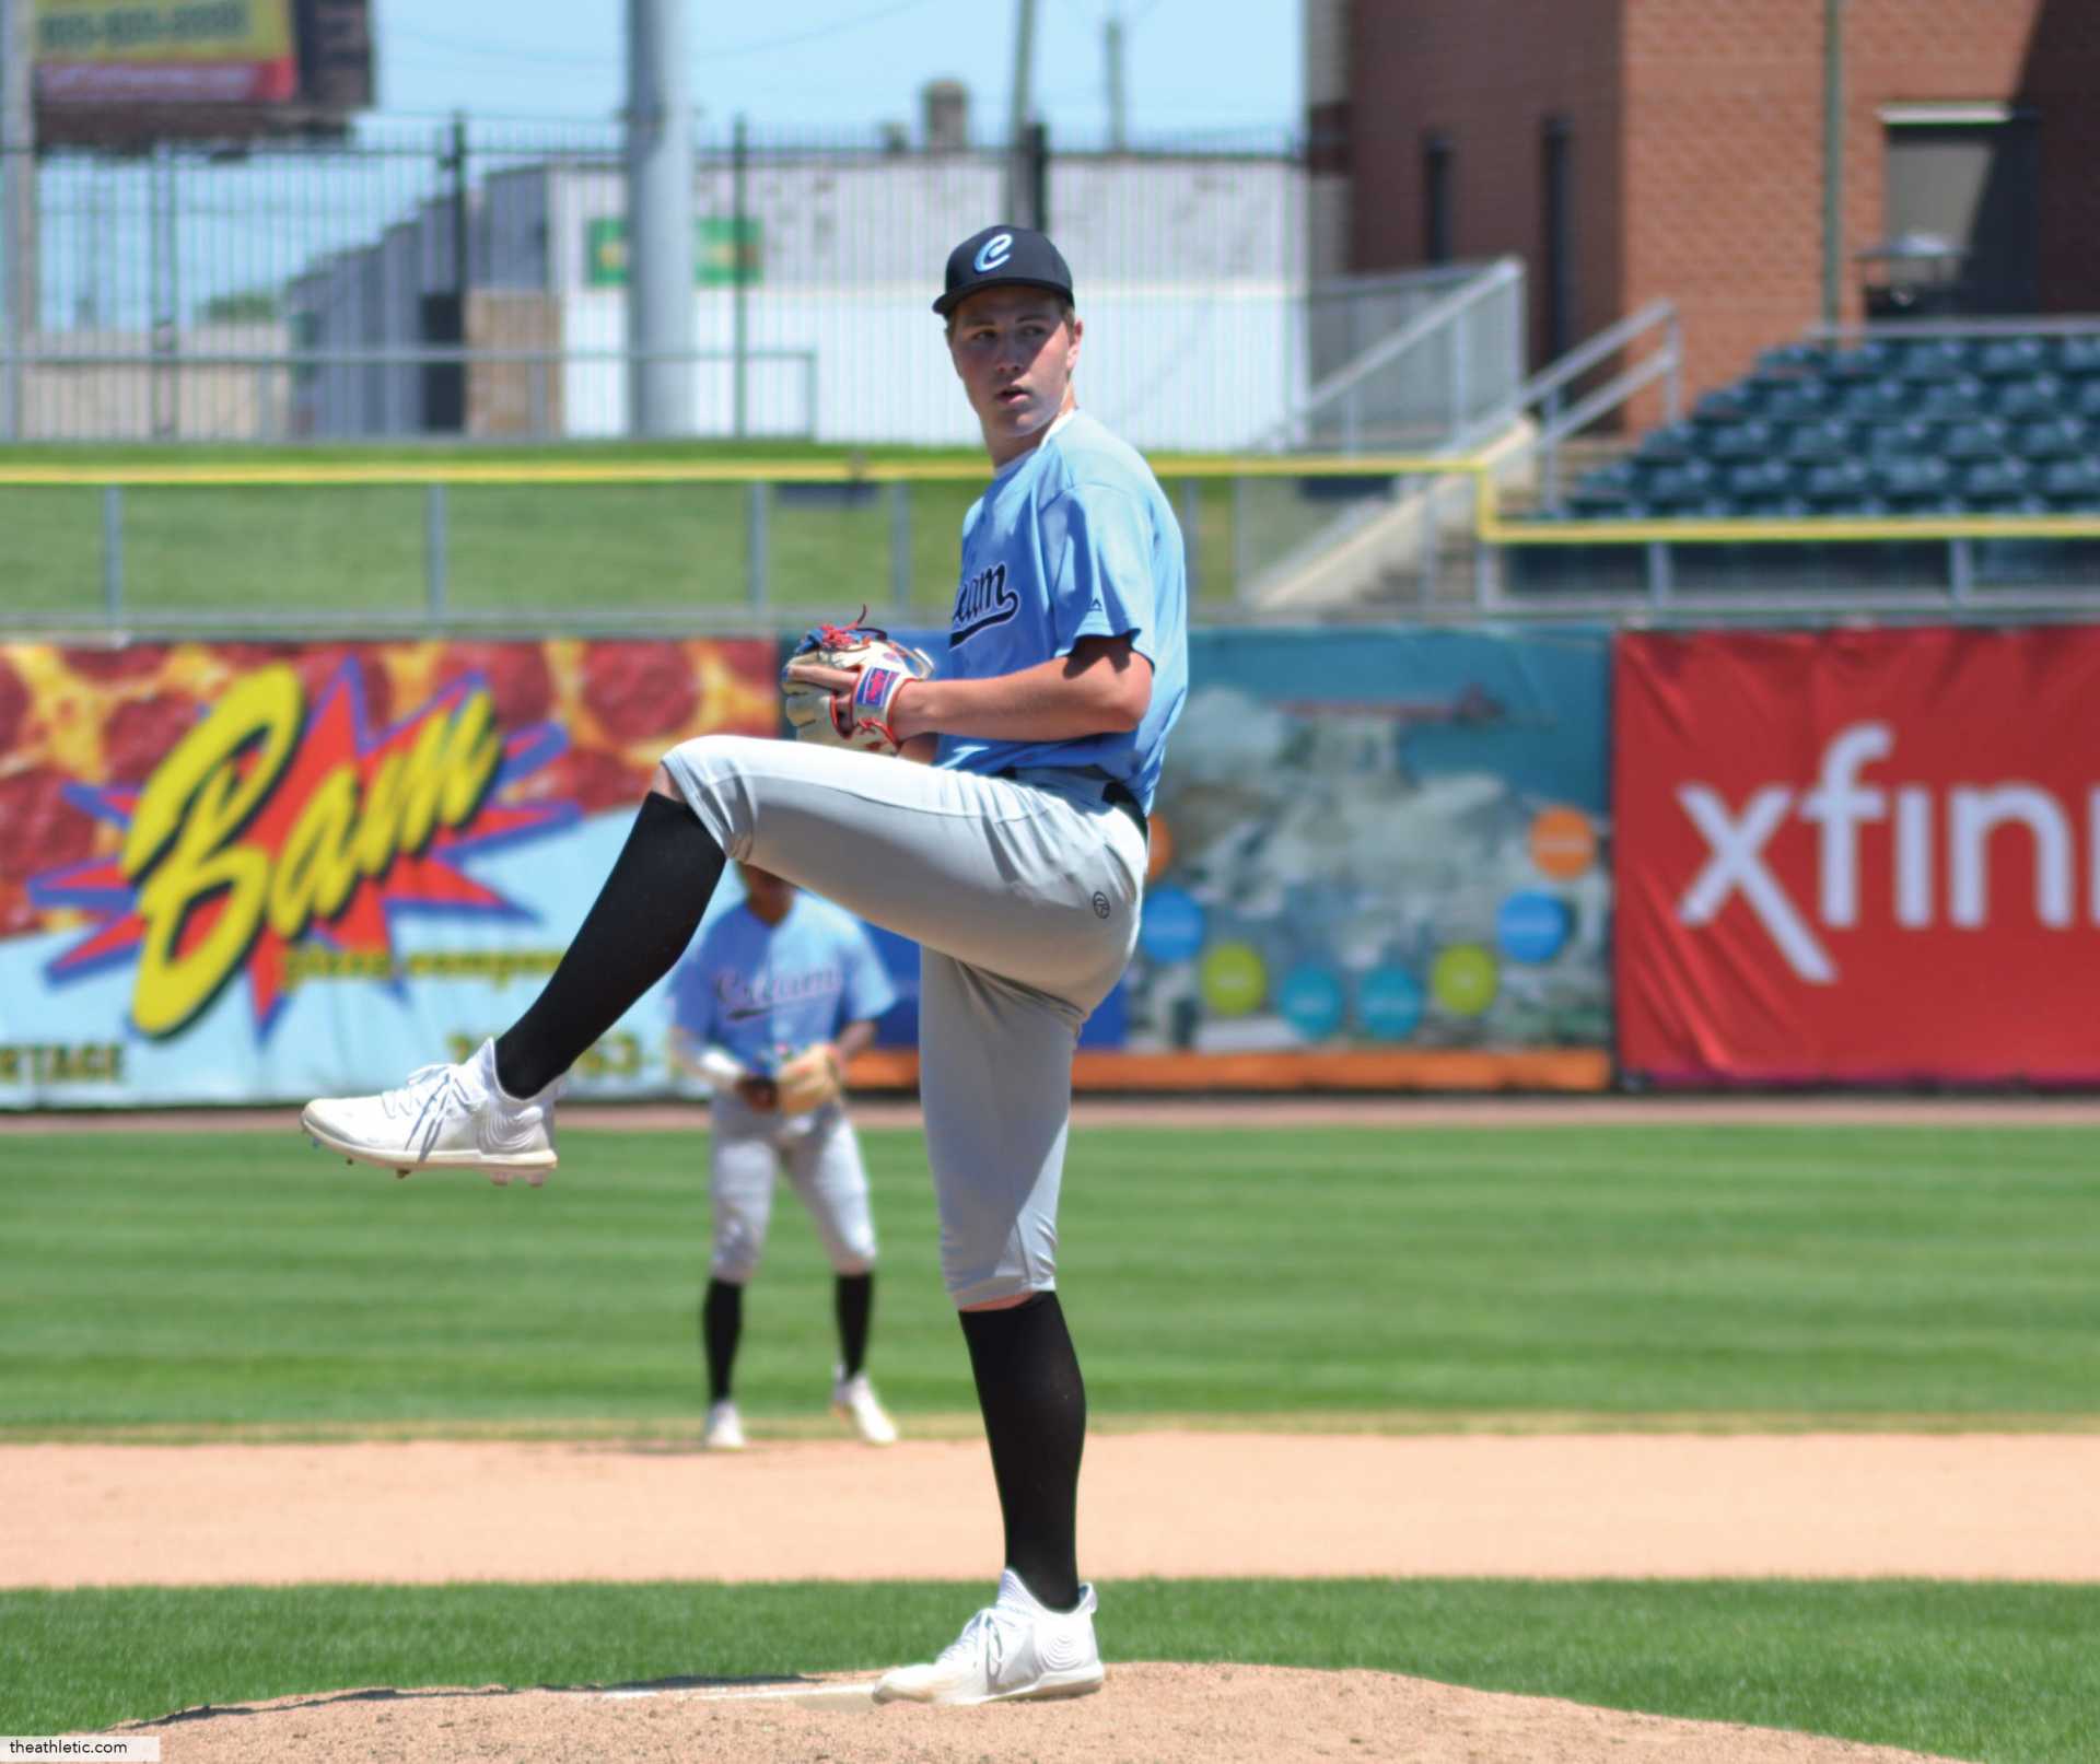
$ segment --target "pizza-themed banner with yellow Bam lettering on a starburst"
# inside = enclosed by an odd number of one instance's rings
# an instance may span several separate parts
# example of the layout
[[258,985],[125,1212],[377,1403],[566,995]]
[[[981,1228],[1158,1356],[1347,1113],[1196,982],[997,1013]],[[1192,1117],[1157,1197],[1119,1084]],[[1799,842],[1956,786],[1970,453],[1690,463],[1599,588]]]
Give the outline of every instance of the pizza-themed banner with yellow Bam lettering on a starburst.
[[[0,1107],[397,1084],[531,1000],[752,643],[0,647]],[[578,1069],[666,1088],[662,1002]]]

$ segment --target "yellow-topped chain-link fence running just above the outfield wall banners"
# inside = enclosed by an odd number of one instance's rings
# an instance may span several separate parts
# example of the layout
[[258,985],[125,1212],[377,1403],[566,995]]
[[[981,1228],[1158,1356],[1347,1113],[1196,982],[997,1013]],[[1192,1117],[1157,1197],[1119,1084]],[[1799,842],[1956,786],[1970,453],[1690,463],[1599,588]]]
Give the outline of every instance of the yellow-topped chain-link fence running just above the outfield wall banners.
[[[1712,622],[1882,617],[2056,617],[2100,615],[2100,512],[2079,517],[1934,517],[1934,519],[1804,519],[1804,521],[1514,521],[1499,510],[1489,456],[1260,456],[1176,458],[1153,466],[1174,496],[1189,546],[1193,609],[1205,620],[1247,620],[1262,613],[1245,588],[1264,550],[1289,540],[1296,519],[1321,517],[1323,485],[1359,479],[1392,483],[1430,479],[1472,485],[1468,592],[1438,592],[1434,559],[1409,598],[1373,598],[1350,617],[1407,615],[1422,622],[1567,620]],[[403,632],[508,630],[529,624],[546,632],[727,630],[773,626],[792,630],[838,607],[869,601],[897,626],[939,626],[947,615],[953,531],[960,508],[983,483],[985,466],[966,460],[475,460],[388,458],[279,464],[0,464],[0,506],[6,498],[52,491],[69,502],[65,519],[94,521],[92,542],[74,531],[55,546],[48,525],[0,519],[0,571],[19,582],[6,538],[42,536],[36,544],[69,550],[78,578],[46,605],[10,594],[0,603],[0,630],[17,634],[124,640],[145,634],[197,636],[380,636]],[[632,500],[592,508],[590,487],[632,496],[662,491],[670,523],[666,546],[634,561],[617,540],[647,521]],[[231,521],[147,521],[151,550],[166,573],[170,529],[195,533],[181,592],[166,582],[139,582],[132,496],[218,489],[246,500]],[[202,569],[233,573],[229,554],[252,552],[265,540],[269,498],[252,491],[363,491],[391,498],[382,517],[359,504],[326,517],[304,565],[307,598],[273,603],[267,588],[244,586],[212,598],[200,590]],[[481,491],[512,500],[477,506]],[[548,496],[571,502],[554,512]],[[1312,500],[1306,502],[1308,491]],[[462,502],[464,498],[464,502]],[[693,521],[695,504],[714,498],[714,512],[691,546],[676,521]],[[92,517],[90,517],[92,510]],[[1281,517],[1279,517],[1279,510]],[[1310,512],[1306,512],[1310,510]],[[470,521],[466,517],[472,517]],[[508,531],[538,517],[546,531],[573,548],[533,556],[538,540]],[[307,517],[313,519],[313,510]],[[388,580],[374,580],[359,546],[378,544],[368,531],[401,529],[382,546]],[[462,531],[470,527],[472,531]],[[1737,580],[1730,563],[1772,556],[1781,548],[1812,548],[1823,559],[1865,556],[1865,548],[1898,548],[1913,573],[1848,573],[1831,565],[1827,586],[1791,590],[1772,571],[1751,565]],[[147,544],[141,542],[141,550]],[[580,550],[578,550],[580,548]],[[1997,550],[1993,550],[1997,548]],[[687,554],[697,550],[699,554]],[[1604,571],[1598,580],[1514,580],[1525,559],[1588,552]],[[521,561],[525,556],[527,561]],[[464,565],[462,565],[464,559]],[[582,565],[578,565],[582,559]],[[1936,563],[1934,563],[1936,559]],[[2024,559],[2006,571],[2006,561]],[[2052,563],[2054,561],[2054,563]],[[468,567],[472,592],[462,594]],[[2060,565],[2060,567],[2058,567]],[[2054,573],[2052,573],[2054,569]],[[651,580],[662,571],[664,580]],[[88,578],[94,578],[92,586]],[[260,582],[290,578],[265,563]],[[414,580],[418,578],[420,580]],[[242,578],[244,582],[248,578]],[[412,592],[403,592],[412,586]],[[689,592],[704,582],[708,592]],[[733,586],[731,586],[733,584]],[[850,607],[848,607],[850,609]],[[1275,617],[1302,620],[1302,609]]]

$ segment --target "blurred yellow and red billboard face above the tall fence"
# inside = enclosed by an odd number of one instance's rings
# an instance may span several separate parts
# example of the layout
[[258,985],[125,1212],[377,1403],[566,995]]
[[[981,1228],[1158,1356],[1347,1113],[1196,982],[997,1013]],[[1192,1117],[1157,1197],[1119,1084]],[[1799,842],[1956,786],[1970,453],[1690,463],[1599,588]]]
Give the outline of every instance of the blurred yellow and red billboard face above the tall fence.
[[292,0],[36,0],[42,103],[284,103]]

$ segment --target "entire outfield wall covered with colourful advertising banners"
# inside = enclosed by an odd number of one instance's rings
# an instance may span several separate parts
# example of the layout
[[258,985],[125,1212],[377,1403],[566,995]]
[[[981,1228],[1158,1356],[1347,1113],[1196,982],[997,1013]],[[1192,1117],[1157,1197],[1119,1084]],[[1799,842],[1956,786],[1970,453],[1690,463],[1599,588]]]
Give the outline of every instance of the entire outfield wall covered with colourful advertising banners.
[[[0,1107],[464,1054],[559,960],[657,754],[777,731],[779,659],[0,647]],[[1199,630],[1077,1082],[2094,1084],[2096,668],[2068,628]],[[903,1002],[859,1077],[909,1084],[916,949],[878,945]],[[659,987],[575,1094],[678,1092],[666,1027]]]

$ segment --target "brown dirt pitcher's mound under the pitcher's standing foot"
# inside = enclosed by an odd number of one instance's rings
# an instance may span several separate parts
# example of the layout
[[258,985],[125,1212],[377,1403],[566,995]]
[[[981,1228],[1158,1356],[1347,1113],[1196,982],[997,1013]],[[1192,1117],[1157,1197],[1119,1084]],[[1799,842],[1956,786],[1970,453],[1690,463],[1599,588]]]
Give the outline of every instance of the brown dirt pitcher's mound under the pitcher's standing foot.
[[1922,1754],[1770,1728],[1628,1716],[1386,1672],[1111,1665],[1094,1697],[981,1709],[872,1705],[867,1676],[622,1690],[338,1690],[187,1709],[158,1732],[181,1764],[504,1758],[737,1764],[1896,1764]]

